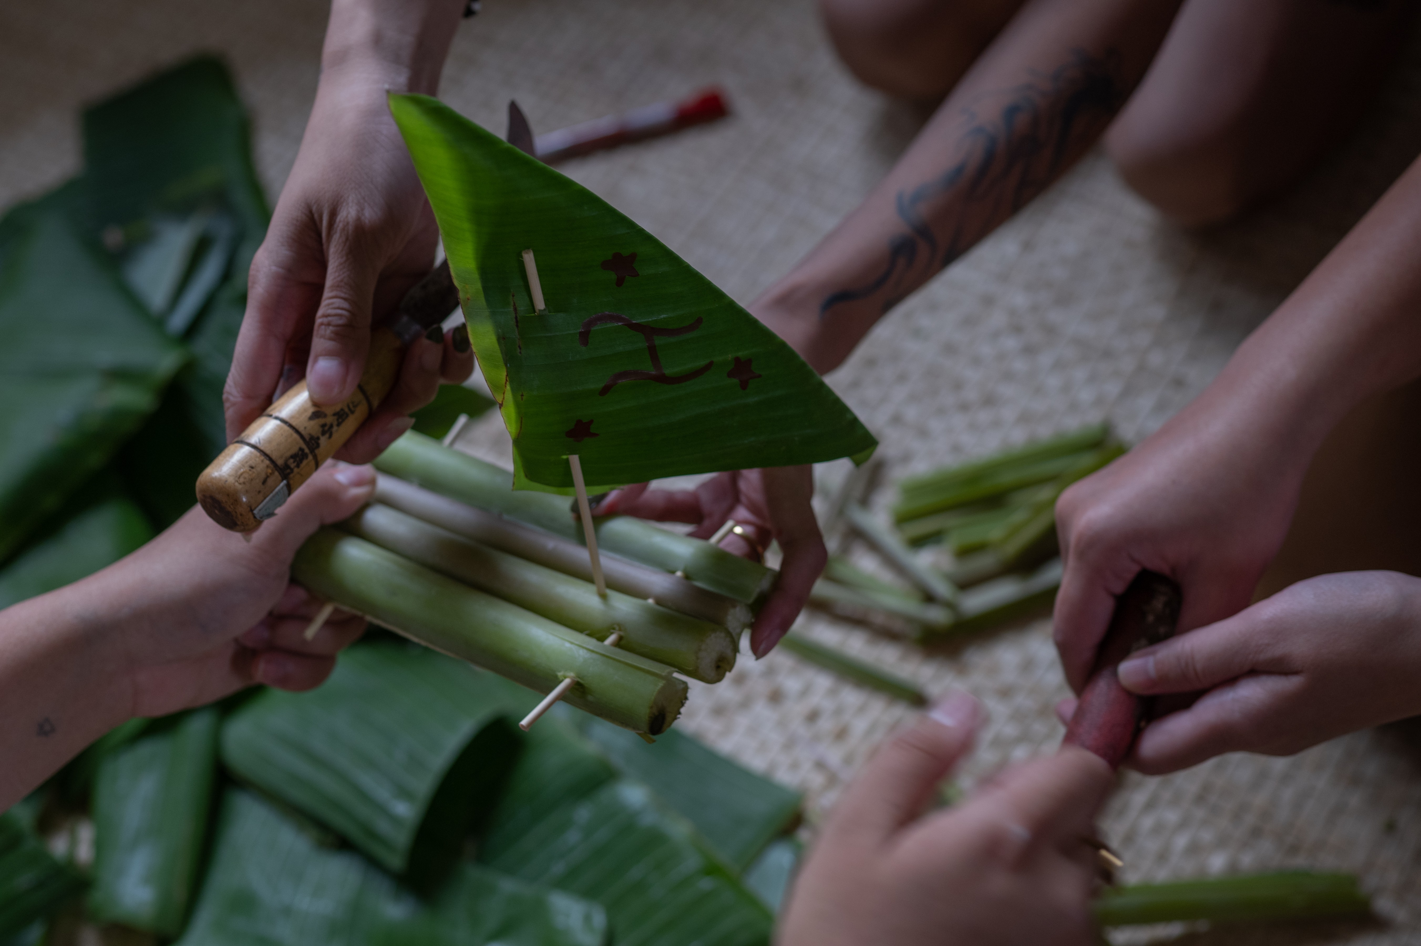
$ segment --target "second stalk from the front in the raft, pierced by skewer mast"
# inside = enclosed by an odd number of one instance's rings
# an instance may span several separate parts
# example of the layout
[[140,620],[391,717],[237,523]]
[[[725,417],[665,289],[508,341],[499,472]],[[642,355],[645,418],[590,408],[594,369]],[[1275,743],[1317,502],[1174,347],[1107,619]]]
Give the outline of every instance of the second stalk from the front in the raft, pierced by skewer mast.
[[[367,506],[341,528],[450,578],[487,591],[598,641],[621,632],[618,648],[706,683],[735,666],[736,639],[725,628],[455,535],[388,506]],[[584,550],[583,558],[587,558]]]

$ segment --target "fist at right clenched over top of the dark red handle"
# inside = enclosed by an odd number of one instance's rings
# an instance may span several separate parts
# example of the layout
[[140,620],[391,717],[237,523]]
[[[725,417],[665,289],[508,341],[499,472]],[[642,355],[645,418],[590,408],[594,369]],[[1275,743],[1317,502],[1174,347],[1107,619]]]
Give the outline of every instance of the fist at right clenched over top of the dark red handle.
[[1077,693],[1115,598],[1142,568],[1179,582],[1179,632],[1248,605],[1287,534],[1314,449],[1283,426],[1211,391],[1061,494],[1056,648]]

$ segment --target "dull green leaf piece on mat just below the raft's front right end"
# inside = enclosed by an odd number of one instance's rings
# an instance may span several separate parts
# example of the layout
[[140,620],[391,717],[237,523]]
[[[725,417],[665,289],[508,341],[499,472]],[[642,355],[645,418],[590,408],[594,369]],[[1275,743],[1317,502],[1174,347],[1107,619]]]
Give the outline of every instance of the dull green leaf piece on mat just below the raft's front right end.
[[583,734],[617,770],[657,793],[696,827],[716,855],[746,869],[800,815],[797,791],[755,774],[703,744],[671,730],[645,743],[598,719],[578,720]]

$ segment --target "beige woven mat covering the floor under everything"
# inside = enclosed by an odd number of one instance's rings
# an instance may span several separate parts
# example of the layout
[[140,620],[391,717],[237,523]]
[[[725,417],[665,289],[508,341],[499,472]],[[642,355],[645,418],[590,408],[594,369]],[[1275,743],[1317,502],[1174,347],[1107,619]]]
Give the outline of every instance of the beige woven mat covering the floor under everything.
[[[318,74],[325,4],[253,0],[0,9],[0,203],[78,168],[75,109],[199,50],[222,51],[254,109],[276,195]],[[732,121],[566,170],[740,301],[806,253],[890,168],[922,115],[858,88],[809,0],[489,0],[460,27],[443,98],[490,128],[516,97],[536,129],[719,82]],[[882,439],[890,479],[1110,418],[1127,439],[1198,393],[1238,342],[1421,151],[1412,41],[1360,131],[1292,197],[1208,236],[1161,223],[1093,153],[908,300],[831,384]],[[469,435],[506,456],[496,420]],[[827,470],[833,476],[836,470]],[[880,490],[877,504],[888,500]],[[863,555],[863,550],[851,550]],[[925,653],[824,615],[801,628],[918,680],[965,686],[990,723],[971,783],[1060,739],[1066,695],[1049,621]],[[681,723],[833,804],[902,706],[787,653],[693,685]],[[1380,923],[1152,930],[1118,942],[1421,942],[1421,734],[1388,727],[1293,759],[1233,756],[1168,778],[1125,776],[1106,815],[1127,879],[1289,866],[1354,871]]]

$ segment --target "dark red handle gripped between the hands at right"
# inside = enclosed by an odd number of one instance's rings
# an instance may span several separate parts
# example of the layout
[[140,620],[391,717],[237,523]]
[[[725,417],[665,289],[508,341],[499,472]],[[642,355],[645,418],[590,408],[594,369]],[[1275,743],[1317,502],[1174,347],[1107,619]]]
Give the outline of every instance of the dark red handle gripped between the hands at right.
[[1115,668],[1135,651],[1172,638],[1181,602],[1179,585],[1155,571],[1141,571],[1115,599],[1115,614],[1066,727],[1064,744],[1088,749],[1111,768],[1120,767],[1140,733],[1148,700],[1123,687]]

